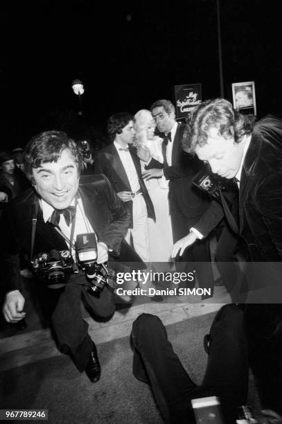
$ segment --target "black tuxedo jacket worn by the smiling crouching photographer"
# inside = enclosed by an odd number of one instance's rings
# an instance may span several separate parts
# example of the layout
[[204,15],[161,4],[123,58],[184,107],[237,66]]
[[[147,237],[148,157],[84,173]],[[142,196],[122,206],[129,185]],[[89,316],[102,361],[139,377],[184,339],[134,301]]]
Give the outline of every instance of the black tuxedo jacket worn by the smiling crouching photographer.
[[[123,202],[116,196],[104,175],[80,177],[78,192],[85,215],[98,241],[105,242],[109,249],[113,249],[112,255],[118,257],[123,236],[130,222],[130,215]],[[6,291],[21,287],[19,254],[30,258],[32,218],[35,204],[38,202],[39,198],[31,188],[12,200],[1,216],[0,254],[4,265],[2,276],[6,283]],[[68,247],[53,225],[44,222],[42,210],[39,208],[33,254],[51,249],[63,250]]]

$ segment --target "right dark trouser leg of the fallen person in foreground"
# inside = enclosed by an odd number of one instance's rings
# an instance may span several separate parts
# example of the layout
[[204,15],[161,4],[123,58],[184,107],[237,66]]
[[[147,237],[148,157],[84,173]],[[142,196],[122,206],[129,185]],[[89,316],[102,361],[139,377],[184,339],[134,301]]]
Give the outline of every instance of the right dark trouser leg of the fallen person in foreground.
[[223,306],[213,320],[210,335],[209,359],[200,391],[206,396],[218,396],[225,421],[233,423],[237,408],[246,403],[248,387],[247,338],[241,308]]

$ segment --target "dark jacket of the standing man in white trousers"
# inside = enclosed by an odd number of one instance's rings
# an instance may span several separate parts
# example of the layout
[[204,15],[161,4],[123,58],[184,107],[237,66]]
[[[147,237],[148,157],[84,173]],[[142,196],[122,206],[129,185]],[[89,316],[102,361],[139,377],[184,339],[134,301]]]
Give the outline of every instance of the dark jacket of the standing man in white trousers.
[[[132,147],[129,148],[132,160],[136,168],[136,173],[139,178],[140,188],[143,193],[144,200],[146,202],[148,218],[156,220],[154,206],[152,204],[152,200],[142,178],[140,159],[136,155],[135,149]],[[112,186],[116,193],[119,193],[120,191],[131,191],[130,182],[128,181],[125,168],[113,143],[100,150],[94,162],[94,169],[95,173],[106,175],[106,177],[112,183]],[[123,204],[127,208],[127,211],[130,212],[130,228],[132,228],[132,202],[123,202]]]

